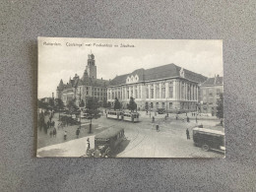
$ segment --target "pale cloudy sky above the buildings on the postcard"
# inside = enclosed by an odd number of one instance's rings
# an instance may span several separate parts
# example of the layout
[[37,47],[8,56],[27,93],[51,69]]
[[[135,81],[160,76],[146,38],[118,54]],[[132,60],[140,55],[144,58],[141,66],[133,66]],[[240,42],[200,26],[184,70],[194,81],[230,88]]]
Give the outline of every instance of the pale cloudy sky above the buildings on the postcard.
[[82,77],[91,52],[97,79],[170,63],[206,77],[224,75],[222,40],[38,37],[38,98],[56,96],[61,79],[66,84],[75,74]]

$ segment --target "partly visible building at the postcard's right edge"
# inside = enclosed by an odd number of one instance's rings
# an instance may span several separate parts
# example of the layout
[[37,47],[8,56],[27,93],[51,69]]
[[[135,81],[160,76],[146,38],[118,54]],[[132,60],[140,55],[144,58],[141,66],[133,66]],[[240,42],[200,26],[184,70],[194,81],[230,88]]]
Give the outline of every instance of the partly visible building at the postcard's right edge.
[[224,93],[224,78],[219,75],[200,85],[199,112],[216,115],[217,101]]

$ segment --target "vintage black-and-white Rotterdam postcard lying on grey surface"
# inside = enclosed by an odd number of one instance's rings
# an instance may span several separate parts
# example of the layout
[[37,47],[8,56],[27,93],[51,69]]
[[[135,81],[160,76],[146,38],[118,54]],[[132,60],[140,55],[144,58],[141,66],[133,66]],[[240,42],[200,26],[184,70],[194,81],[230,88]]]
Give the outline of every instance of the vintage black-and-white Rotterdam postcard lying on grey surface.
[[38,158],[224,158],[222,40],[38,37]]

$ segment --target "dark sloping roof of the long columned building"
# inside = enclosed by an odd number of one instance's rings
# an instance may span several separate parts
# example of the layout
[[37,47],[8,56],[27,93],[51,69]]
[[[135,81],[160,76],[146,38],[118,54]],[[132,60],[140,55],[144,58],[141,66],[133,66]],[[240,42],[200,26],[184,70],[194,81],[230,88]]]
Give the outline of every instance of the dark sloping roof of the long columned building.
[[[160,67],[154,67],[151,69],[137,69],[134,72],[130,74],[125,74],[121,76],[116,76],[113,80],[110,81],[110,86],[116,86],[116,85],[122,85],[126,83],[126,78],[131,75],[138,75],[139,76],[139,82],[145,82],[145,81],[154,81],[159,79],[167,79],[167,78],[174,78],[180,76],[180,70],[181,67],[176,66],[175,64],[167,64],[162,65]],[[193,82],[202,83],[207,80],[207,77],[194,73],[192,71],[183,69],[184,71],[184,78],[188,79]]]

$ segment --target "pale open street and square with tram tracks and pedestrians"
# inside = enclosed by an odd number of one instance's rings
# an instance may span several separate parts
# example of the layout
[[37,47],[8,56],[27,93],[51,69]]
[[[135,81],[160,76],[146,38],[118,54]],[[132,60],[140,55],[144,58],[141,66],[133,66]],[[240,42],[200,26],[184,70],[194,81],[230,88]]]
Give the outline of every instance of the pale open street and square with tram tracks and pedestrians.
[[[56,145],[56,150],[58,148],[65,149],[59,156],[68,157],[70,156],[69,153],[71,153],[69,151],[72,150],[74,156],[82,157],[85,156],[86,140],[88,137],[91,138],[91,146],[94,148],[94,137],[96,133],[108,127],[118,127],[124,128],[128,145],[124,147],[121,153],[117,154],[117,158],[224,158],[224,154],[204,152],[201,148],[194,146],[192,128],[195,127],[197,123],[195,119],[191,119],[189,123],[184,121],[183,118],[186,117],[186,114],[179,115],[178,120],[175,119],[174,114],[169,114],[166,120],[164,119],[165,114],[158,114],[155,116],[155,123],[152,122],[152,115],[155,115],[155,113],[152,113],[151,117],[150,114],[146,115],[146,112],[140,112],[140,114],[140,122],[138,123],[107,119],[105,116],[94,119],[92,134],[88,133],[88,120],[83,120],[80,132],[81,139],[77,139],[76,137],[78,125],[57,129],[56,138],[49,136],[49,130],[47,135],[43,131],[38,130],[38,148],[42,148],[39,151],[43,151],[44,157],[50,156],[49,154],[54,152],[52,151],[54,145],[59,144]],[[188,116],[189,115],[190,114],[188,114]],[[57,122],[57,117],[58,115],[55,114],[55,122]],[[203,123],[204,127],[210,127],[219,123],[217,119],[205,121],[203,118],[199,119],[197,122],[198,124]],[[206,124],[206,122],[208,122],[208,124]],[[160,132],[156,130],[157,124],[160,126]],[[186,138],[187,128],[190,132],[190,140]],[[220,129],[220,127],[218,129]],[[64,130],[68,132],[66,141],[63,139]],[[68,147],[65,147],[65,143],[68,143]],[[74,146],[74,148],[72,148],[72,146]],[[51,153],[47,154],[47,150],[49,149]],[[63,155],[63,153],[66,155]],[[53,154],[56,154],[56,152]]]

